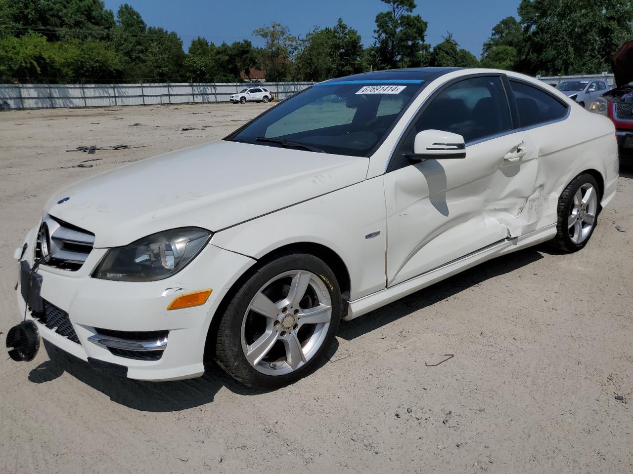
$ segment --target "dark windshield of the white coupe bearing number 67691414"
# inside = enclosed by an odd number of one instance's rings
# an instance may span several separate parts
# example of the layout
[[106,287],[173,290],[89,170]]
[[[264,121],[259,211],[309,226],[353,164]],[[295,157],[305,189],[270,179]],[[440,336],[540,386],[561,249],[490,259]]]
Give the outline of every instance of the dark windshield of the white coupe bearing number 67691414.
[[227,140],[280,146],[261,140],[278,138],[326,153],[368,156],[422,87],[421,80],[415,82],[320,83],[280,102]]

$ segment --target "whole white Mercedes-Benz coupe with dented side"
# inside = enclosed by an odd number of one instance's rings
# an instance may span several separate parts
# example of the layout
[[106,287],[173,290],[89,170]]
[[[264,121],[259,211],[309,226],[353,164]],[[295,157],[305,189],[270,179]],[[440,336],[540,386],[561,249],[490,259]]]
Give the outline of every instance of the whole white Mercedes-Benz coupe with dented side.
[[272,389],[318,367],[341,319],[540,242],[580,250],[617,176],[613,123],[534,78],[329,80],[58,191],[16,251],[18,303],[94,368],[175,380],[215,359]]

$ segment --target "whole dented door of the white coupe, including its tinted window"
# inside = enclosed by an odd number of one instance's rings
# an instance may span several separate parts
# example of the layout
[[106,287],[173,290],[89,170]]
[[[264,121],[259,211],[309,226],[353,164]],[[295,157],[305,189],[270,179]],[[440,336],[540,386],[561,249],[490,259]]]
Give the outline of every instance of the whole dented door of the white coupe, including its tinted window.
[[[503,75],[448,83],[425,101],[384,176],[387,286],[515,237],[515,216],[536,182],[537,150],[515,130]],[[462,135],[465,159],[412,164],[415,135]]]

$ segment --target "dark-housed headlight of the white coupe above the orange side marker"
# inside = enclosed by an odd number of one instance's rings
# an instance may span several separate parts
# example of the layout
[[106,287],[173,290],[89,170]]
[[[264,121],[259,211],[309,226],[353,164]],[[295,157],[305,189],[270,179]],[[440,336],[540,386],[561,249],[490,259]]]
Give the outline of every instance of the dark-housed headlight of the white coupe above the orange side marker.
[[115,281],[162,280],[184,269],[210,238],[209,231],[197,227],[152,234],[108,250],[94,277]]

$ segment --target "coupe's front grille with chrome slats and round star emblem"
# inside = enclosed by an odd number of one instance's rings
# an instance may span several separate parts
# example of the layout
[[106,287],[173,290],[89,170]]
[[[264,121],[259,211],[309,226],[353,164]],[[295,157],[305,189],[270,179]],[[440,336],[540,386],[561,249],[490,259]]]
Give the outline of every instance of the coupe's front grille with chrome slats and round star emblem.
[[93,245],[93,233],[45,215],[35,258],[43,258],[42,265],[74,271],[82,267]]

